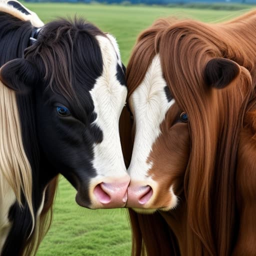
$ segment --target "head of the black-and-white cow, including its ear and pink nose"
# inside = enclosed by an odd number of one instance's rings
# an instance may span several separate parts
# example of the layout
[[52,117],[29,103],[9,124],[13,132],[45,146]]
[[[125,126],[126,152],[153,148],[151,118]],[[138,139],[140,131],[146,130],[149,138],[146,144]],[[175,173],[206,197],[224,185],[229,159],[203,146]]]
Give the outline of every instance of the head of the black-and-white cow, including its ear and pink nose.
[[25,58],[1,67],[0,79],[24,109],[34,107],[40,150],[77,189],[77,203],[124,206],[130,178],[118,121],[127,88],[113,36],[83,20],[50,22]]

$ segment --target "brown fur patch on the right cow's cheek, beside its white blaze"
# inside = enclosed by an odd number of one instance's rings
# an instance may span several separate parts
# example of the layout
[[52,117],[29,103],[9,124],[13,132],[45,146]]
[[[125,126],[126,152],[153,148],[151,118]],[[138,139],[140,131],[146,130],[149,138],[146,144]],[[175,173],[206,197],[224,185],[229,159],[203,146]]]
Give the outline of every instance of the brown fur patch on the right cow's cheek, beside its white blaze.
[[[177,105],[172,105],[161,123],[161,135],[156,139],[152,146],[152,151],[148,161],[153,166],[148,171],[153,179],[157,181],[160,189],[156,191],[154,202],[150,205],[152,208],[161,208],[168,205],[171,195],[165,193],[171,184],[174,184],[175,194],[180,194],[183,184],[183,178],[187,161],[189,157],[189,132],[186,123],[175,123],[176,113],[180,113]],[[166,178],[168,177],[168,178]],[[169,178],[170,177],[170,178]]]

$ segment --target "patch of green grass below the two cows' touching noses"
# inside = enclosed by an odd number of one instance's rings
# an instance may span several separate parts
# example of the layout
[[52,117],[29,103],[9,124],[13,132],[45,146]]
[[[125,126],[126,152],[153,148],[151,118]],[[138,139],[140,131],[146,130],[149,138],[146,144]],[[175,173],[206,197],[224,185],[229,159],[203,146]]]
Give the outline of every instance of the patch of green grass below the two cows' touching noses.
[[129,255],[130,231],[125,209],[81,208],[74,201],[75,193],[61,177],[53,224],[37,255]]

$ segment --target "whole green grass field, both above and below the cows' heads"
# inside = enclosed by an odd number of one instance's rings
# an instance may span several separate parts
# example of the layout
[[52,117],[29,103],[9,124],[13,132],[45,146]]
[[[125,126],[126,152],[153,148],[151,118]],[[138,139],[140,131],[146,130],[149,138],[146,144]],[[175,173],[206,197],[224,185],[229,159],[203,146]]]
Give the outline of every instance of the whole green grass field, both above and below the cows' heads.
[[[83,16],[103,31],[112,33],[127,64],[137,34],[158,17],[175,15],[216,22],[244,11],[181,9],[156,6],[101,4],[25,3],[44,21],[57,16]],[[61,177],[52,226],[40,245],[38,256],[130,255],[130,231],[124,209],[89,210],[76,205],[75,190]]]

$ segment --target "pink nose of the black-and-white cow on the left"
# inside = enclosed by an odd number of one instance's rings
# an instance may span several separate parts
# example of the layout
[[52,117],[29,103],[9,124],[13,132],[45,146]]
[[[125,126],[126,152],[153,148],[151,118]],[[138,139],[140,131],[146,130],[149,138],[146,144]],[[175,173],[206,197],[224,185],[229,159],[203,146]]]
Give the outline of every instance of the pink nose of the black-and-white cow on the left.
[[94,187],[94,196],[102,204],[102,208],[123,207],[127,201],[127,187],[129,182],[129,177],[121,181],[101,182]]

